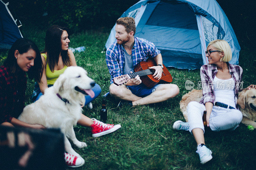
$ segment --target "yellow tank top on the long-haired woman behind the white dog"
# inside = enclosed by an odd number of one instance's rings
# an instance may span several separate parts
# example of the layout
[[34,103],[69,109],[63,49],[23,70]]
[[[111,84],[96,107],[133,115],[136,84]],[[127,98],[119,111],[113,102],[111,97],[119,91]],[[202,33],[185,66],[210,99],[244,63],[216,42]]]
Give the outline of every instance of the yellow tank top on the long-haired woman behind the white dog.
[[[44,59],[46,61],[46,54],[42,53],[41,55],[44,56]],[[46,69],[45,69],[45,74],[46,74],[46,79],[47,79],[47,85],[53,85],[57,78],[68,68],[68,66],[64,66],[63,69],[61,70],[54,70],[53,72],[50,70],[50,67],[47,63]]]

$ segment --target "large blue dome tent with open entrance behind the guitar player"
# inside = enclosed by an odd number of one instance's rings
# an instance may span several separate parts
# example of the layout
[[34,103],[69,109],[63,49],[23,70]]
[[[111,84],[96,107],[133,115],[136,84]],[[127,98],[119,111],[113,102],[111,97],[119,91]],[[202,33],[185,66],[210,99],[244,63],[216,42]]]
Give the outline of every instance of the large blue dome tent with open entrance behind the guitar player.
[[[140,0],[121,17],[133,17],[136,37],[153,42],[167,67],[198,69],[208,63],[207,45],[226,40],[231,64],[238,64],[240,46],[227,16],[215,0]],[[114,42],[115,26],[105,47]]]

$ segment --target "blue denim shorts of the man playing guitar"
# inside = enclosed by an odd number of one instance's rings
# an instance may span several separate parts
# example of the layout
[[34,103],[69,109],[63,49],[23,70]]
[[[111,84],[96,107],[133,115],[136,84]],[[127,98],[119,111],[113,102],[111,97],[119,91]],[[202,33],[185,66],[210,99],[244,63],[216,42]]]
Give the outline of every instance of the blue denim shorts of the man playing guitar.
[[[159,84],[161,85],[161,84]],[[159,85],[155,85],[152,88],[148,88],[146,85],[143,83],[140,83],[139,85],[127,85],[126,88],[131,90],[132,94],[138,96],[138,97],[146,97],[152,92],[155,92],[156,88]]]

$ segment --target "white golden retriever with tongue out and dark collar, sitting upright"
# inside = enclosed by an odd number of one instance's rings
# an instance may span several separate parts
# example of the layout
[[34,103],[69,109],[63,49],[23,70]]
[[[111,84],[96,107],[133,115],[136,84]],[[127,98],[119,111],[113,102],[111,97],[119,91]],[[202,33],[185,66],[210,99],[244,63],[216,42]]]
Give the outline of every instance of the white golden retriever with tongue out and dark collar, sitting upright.
[[68,138],[79,148],[87,146],[76,139],[73,126],[80,119],[80,103],[85,102],[84,95],[94,97],[91,90],[94,85],[95,82],[82,67],[70,66],[52,87],[45,90],[39,100],[24,108],[18,119],[30,124],[41,124],[46,128],[60,128],[64,133],[66,152],[80,156],[71,147]]

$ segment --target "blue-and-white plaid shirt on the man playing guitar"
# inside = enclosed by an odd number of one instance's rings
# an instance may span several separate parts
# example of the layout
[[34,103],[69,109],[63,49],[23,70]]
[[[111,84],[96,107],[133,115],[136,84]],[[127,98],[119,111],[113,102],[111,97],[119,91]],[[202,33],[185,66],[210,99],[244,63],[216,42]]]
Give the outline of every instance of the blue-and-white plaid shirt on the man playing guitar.
[[[124,70],[124,48],[117,44],[117,41],[108,46],[106,51],[106,63],[111,76],[110,83],[113,78],[121,76]],[[146,61],[148,57],[155,57],[160,51],[156,46],[145,39],[134,37],[134,45],[132,47],[133,68],[141,61]]]

